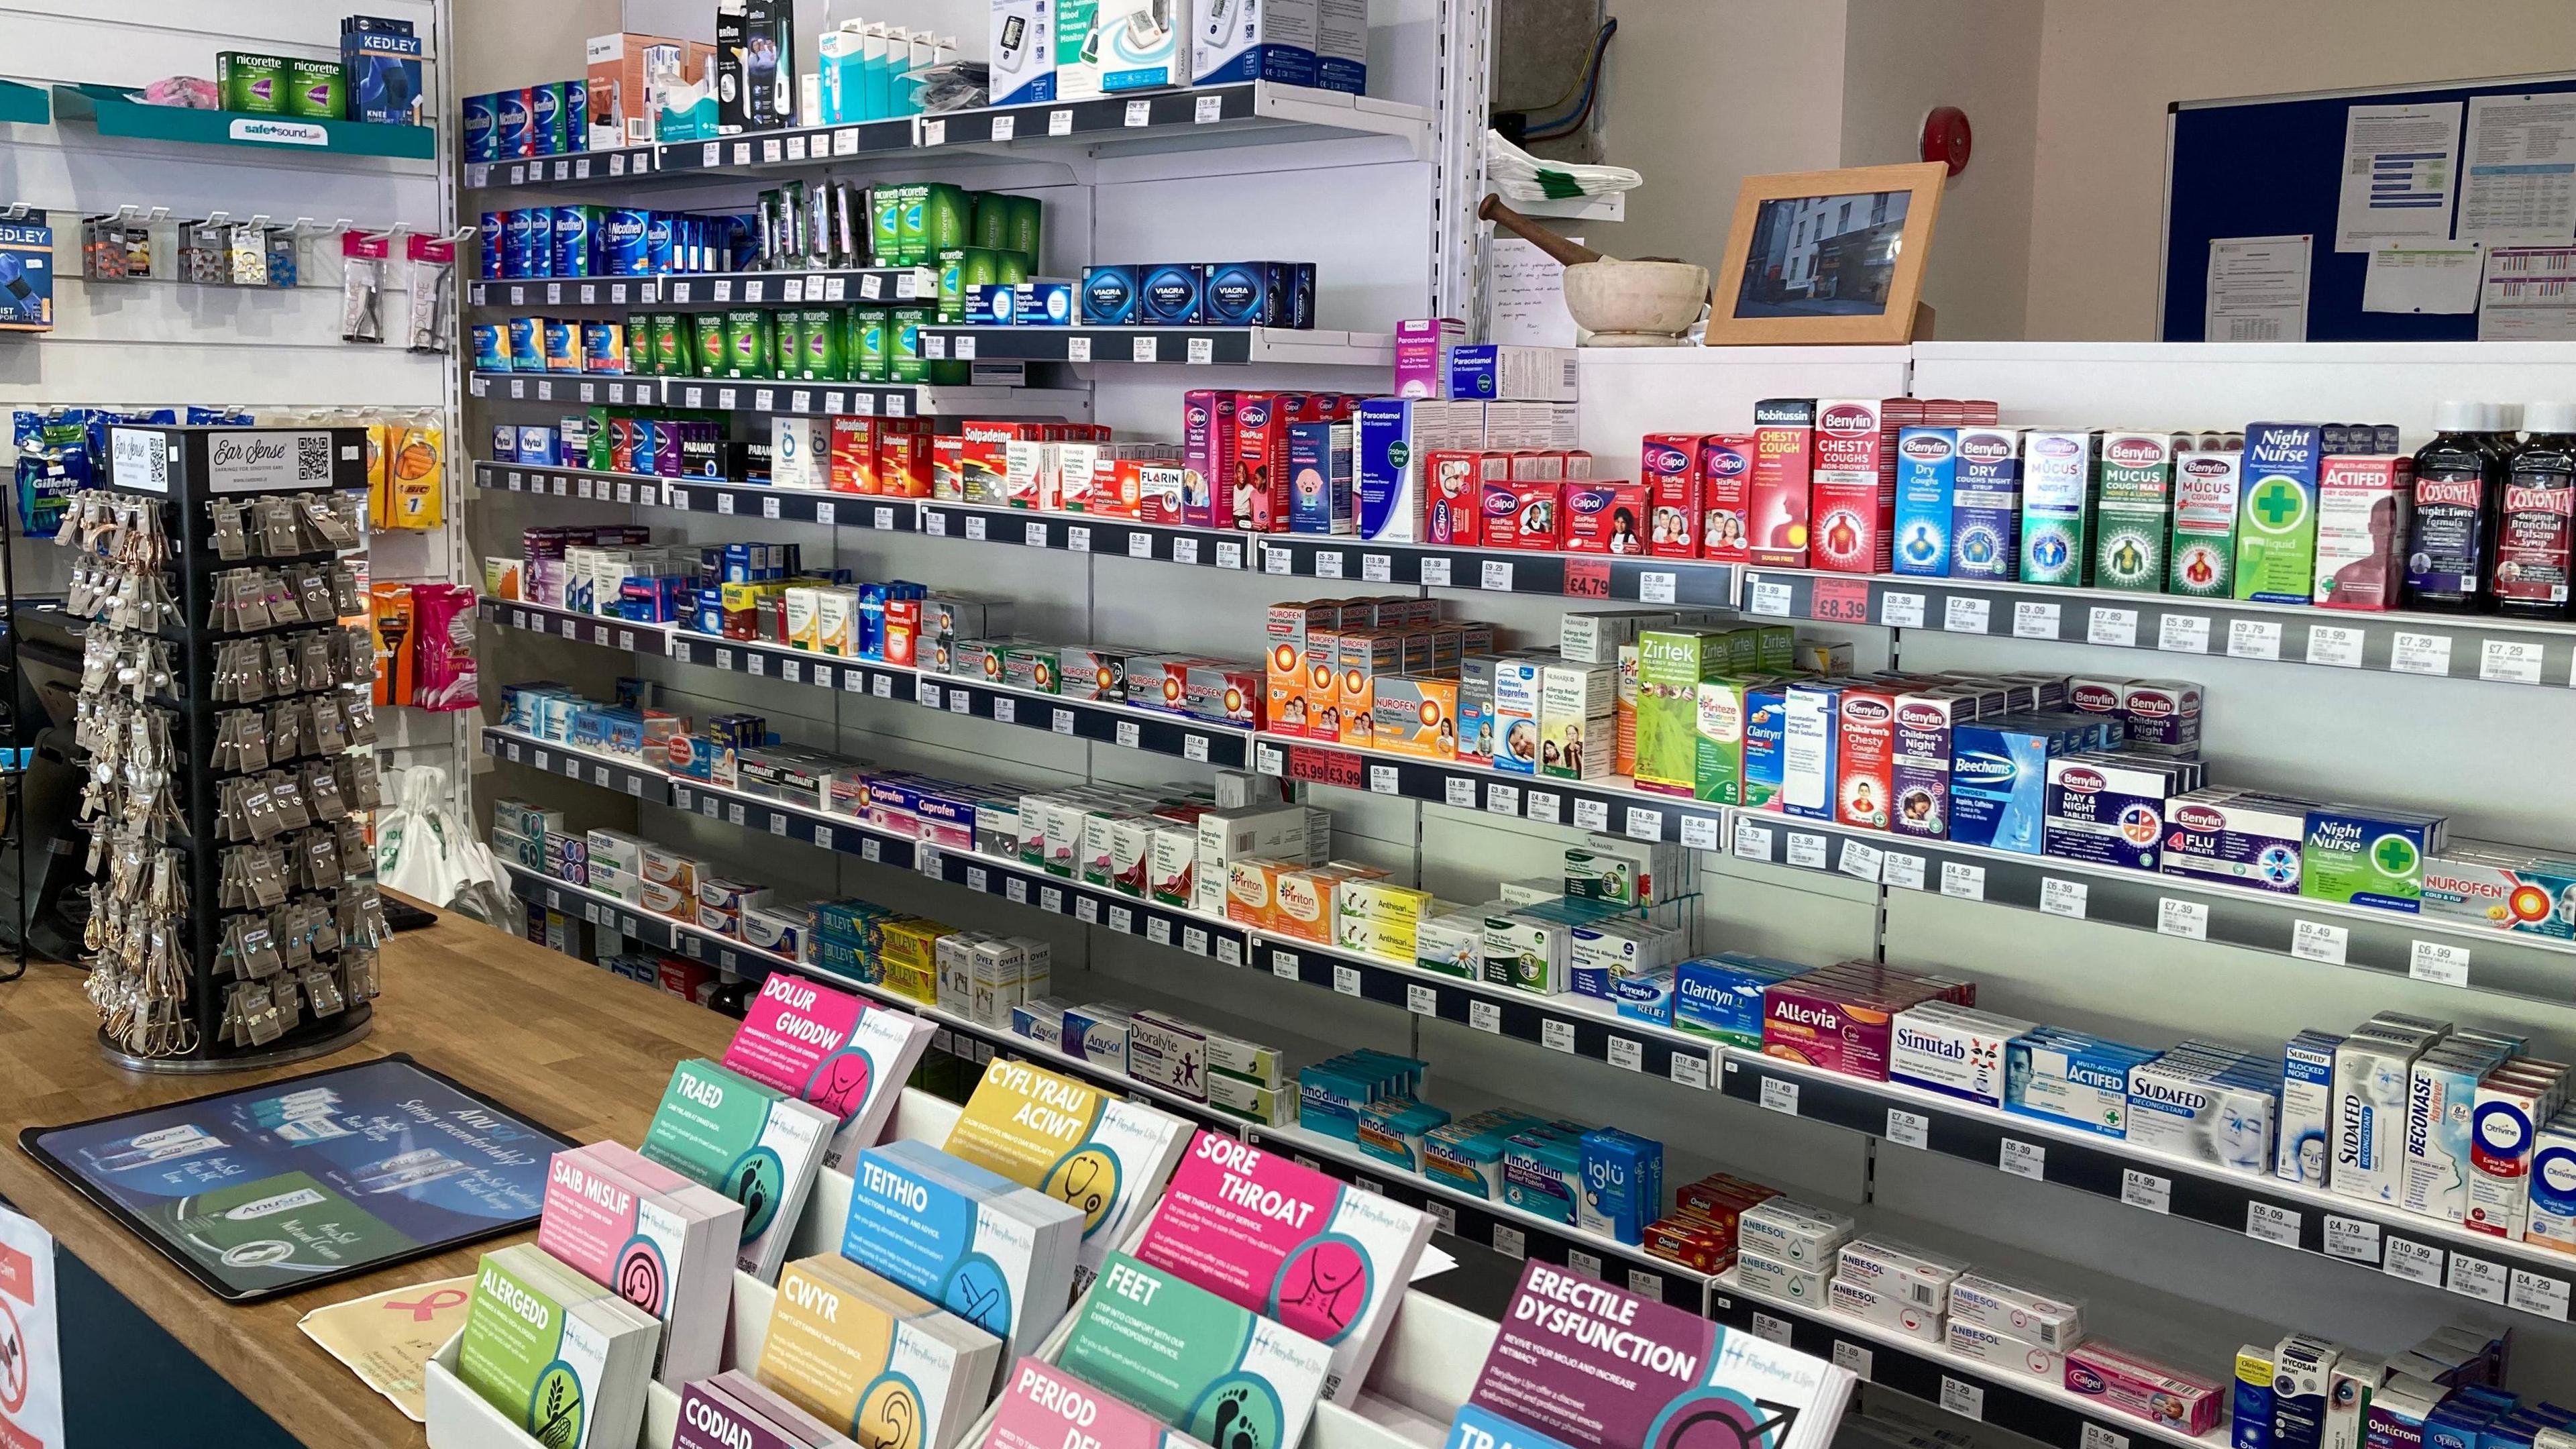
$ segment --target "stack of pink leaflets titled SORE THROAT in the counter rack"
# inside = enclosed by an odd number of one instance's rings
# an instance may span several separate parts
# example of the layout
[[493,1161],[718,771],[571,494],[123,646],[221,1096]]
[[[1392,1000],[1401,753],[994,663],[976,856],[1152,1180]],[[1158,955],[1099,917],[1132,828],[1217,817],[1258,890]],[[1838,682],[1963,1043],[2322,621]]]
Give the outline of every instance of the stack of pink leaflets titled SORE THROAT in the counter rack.
[[1324,1397],[1360,1395],[1432,1220],[1200,1132],[1172,1171],[1136,1258],[1327,1343]]

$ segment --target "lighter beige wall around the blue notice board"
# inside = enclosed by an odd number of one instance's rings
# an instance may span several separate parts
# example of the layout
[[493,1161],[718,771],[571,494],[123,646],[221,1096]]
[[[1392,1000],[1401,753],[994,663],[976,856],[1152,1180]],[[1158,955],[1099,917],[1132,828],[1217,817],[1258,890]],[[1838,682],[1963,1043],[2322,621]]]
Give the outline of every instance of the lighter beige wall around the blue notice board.
[[2048,0],[2025,335],[2156,335],[2166,101],[2543,70],[2576,70],[2566,0]]

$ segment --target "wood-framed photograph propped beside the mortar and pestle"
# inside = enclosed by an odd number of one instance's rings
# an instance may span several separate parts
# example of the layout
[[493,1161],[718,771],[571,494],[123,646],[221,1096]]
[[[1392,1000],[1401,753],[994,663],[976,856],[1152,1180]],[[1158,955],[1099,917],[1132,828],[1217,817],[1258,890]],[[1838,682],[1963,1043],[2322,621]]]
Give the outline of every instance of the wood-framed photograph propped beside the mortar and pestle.
[[1937,160],[1747,175],[1708,345],[1911,340],[1945,178]]

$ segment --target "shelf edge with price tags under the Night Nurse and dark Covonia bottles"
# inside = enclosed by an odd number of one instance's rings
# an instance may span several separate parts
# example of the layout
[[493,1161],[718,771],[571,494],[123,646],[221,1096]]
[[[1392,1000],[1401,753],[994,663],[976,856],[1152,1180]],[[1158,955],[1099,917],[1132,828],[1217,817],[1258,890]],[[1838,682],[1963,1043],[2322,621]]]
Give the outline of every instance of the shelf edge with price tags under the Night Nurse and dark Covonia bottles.
[[1741,575],[1744,614],[1759,619],[2058,639],[2151,650],[2177,660],[2218,655],[2494,683],[2576,683],[2576,624],[2540,619],[2362,614],[2298,603],[1759,565],[1744,567]]

